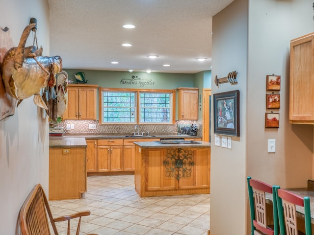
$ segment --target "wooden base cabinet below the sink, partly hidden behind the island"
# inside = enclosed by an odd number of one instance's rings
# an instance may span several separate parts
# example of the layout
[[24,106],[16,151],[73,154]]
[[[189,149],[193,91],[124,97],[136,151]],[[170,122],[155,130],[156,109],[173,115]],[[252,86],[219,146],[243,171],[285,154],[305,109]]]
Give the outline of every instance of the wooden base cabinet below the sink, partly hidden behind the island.
[[123,170],[134,171],[135,169],[135,142],[160,141],[160,139],[125,139],[123,141]]

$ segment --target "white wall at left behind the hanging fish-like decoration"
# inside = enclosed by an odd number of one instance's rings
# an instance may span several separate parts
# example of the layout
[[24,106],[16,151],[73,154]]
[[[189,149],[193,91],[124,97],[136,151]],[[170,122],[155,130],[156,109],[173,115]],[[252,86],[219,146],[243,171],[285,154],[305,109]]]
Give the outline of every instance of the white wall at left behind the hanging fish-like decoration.
[[[38,44],[49,55],[49,6],[46,0],[0,0],[0,27],[7,26],[17,46],[31,17],[38,23]],[[30,35],[26,46],[32,44]],[[1,47],[1,45],[0,45]],[[48,118],[25,99],[15,114],[0,121],[0,234],[18,234],[18,215],[29,191],[41,183],[48,193]]]

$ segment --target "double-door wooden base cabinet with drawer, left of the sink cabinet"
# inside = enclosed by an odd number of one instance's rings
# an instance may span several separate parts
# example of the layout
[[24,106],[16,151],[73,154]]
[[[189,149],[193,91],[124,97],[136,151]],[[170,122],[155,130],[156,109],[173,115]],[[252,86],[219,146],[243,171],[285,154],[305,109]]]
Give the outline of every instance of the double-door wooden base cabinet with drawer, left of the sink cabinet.
[[123,139],[97,140],[97,172],[122,171]]

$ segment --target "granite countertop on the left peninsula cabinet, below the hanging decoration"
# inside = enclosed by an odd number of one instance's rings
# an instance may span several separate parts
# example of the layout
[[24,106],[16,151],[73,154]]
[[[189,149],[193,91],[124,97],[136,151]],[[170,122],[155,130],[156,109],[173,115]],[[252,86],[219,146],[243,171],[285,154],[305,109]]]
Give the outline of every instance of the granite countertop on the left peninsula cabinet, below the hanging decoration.
[[87,147],[84,137],[72,136],[53,136],[49,138],[49,147],[51,148],[78,148]]

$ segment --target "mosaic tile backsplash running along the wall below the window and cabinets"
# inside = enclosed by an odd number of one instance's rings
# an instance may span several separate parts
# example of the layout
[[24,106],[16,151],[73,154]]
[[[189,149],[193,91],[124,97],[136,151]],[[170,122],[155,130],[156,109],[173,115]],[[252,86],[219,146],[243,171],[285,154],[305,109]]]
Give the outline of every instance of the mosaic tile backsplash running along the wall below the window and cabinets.
[[[67,124],[72,125],[74,129],[67,130]],[[89,124],[95,124],[96,129],[89,129]],[[146,133],[178,133],[178,126],[180,125],[198,125],[197,135],[202,136],[202,121],[176,121],[176,124],[173,125],[147,125],[140,124],[139,132]],[[106,124],[99,125],[98,120],[64,120],[58,124],[59,127],[64,128],[64,134],[73,134],[73,133],[133,133],[134,124]],[[179,128],[180,129],[180,128]],[[137,129],[136,129],[137,132]]]

